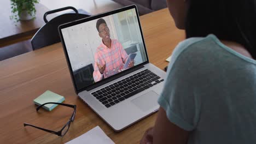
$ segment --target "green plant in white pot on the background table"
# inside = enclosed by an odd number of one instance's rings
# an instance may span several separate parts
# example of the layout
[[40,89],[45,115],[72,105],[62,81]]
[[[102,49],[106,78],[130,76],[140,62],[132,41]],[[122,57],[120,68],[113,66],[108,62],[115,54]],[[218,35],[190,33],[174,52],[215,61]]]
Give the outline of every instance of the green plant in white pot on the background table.
[[10,0],[11,1],[11,19],[15,21],[31,20],[36,16],[34,4],[39,0]]

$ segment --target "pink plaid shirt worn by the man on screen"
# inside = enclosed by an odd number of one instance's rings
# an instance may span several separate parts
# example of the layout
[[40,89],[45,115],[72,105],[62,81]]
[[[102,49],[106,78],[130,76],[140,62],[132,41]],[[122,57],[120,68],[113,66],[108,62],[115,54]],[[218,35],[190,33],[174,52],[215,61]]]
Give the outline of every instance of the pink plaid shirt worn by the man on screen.
[[[127,60],[127,53],[124,50],[121,43],[119,43],[116,39],[111,39],[111,47],[108,49],[106,45],[101,43],[100,46],[97,47],[95,56],[94,56],[94,81],[102,80],[109,76],[119,73],[124,66],[124,63]],[[103,66],[106,62],[106,69],[103,72],[103,75],[98,70],[97,63]]]

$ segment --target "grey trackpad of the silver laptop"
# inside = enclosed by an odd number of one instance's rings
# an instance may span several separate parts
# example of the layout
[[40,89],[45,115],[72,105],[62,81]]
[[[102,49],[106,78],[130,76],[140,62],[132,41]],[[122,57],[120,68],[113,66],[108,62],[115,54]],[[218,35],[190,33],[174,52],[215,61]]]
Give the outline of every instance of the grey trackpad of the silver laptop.
[[131,100],[131,102],[138,106],[142,111],[148,111],[149,109],[152,109],[158,105],[158,97],[158,94],[156,94],[154,91],[150,91],[136,99]]

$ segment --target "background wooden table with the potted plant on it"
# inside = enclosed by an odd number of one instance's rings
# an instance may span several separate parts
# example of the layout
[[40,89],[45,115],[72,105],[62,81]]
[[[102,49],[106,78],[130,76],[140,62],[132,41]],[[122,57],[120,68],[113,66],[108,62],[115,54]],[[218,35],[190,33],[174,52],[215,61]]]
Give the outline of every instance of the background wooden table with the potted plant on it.
[[[30,21],[11,20],[10,0],[1,0],[0,13],[0,47],[18,43],[22,40],[31,39],[34,33],[42,27],[45,22],[43,20],[44,13],[49,11],[43,4],[36,4],[36,19]],[[54,16],[49,15],[49,19]]]

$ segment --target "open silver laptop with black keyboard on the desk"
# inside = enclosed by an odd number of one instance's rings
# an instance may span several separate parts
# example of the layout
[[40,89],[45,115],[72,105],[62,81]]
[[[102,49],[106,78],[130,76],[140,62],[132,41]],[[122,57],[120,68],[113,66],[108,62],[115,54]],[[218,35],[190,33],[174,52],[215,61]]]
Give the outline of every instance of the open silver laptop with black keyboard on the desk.
[[158,111],[166,73],[149,63],[136,5],[65,23],[59,33],[75,92],[112,129]]

